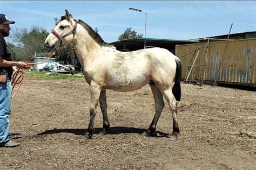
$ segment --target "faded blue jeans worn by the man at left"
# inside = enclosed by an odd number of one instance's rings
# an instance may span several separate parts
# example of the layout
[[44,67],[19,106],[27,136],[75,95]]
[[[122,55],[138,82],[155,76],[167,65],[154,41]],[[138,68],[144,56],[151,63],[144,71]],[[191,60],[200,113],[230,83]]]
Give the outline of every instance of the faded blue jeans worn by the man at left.
[[11,113],[11,80],[7,83],[0,83],[0,145],[10,141],[9,138],[9,118]]

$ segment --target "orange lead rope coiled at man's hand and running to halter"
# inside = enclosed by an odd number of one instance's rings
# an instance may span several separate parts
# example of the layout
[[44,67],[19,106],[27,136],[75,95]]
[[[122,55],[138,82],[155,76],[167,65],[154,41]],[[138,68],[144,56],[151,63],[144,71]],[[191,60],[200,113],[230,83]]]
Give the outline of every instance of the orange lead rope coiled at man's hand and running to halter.
[[[43,62],[29,62],[29,63],[26,63],[27,65],[39,65],[39,64],[42,64],[42,63],[45,63],[47,61],[49,61],[53,56],[55,56],[57,53],[56,52],[53,52],[48,59],[46,59],[45,61]],[[21,88],[21,85],[25,79],[25,76],[26,76],[26,72],[25,72],[25,69],[21,69],[21,68],[18,68],[18,67],[14,67],[14,73],[12,73],[12,76],[11,76],[11,86],[12,86],[12,93],[13,95],[11,96],[14,97],[18,91],[19,91],[19,88]],[[18,76],[19,75],[19,76]],[[19,84],[17,90],[15,91],[14,93],[14,88],[16,86],[16,84]]]

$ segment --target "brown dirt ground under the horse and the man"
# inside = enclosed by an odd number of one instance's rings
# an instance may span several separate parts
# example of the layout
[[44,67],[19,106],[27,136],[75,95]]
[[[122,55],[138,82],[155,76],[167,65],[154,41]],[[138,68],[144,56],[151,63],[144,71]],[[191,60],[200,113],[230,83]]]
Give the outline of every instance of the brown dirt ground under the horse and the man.
[[[11,138],[0,148],[0,168],[255,169],[256,92],[182,84],[180,136],[144,137],[154,115],[149,86],[131,93],[107,91],[110,132],[83,136],[90,91],[84,80],[26,80],[12,100]],[[172,132],[167,103],[157,131]]]

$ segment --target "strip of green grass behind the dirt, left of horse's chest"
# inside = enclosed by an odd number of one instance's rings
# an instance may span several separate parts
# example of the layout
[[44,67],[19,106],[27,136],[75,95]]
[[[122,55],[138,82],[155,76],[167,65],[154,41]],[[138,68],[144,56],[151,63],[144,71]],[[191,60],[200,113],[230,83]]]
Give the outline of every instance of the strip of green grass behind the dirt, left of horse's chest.
[[29,79],[37,79],[37,80],[61,80],[61,79],[84,79],[84,75],[82,73],[78,74],[63,74],[57,72],[37,72],[35,70],[28,71],[26,70],[26,78]]

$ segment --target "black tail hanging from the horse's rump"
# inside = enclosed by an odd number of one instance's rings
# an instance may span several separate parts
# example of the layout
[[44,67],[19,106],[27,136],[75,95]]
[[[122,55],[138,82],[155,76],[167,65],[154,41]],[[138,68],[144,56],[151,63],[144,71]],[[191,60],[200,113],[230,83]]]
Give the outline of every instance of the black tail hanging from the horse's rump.
[[181,97],[181,88],[180,88],[180,80],[181,80],[181,62],[179,59],[175,59],[176,61],[176,75],[174,80],[174,85],[172,87],[172,93],[177,101],[180,101]]

